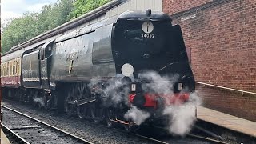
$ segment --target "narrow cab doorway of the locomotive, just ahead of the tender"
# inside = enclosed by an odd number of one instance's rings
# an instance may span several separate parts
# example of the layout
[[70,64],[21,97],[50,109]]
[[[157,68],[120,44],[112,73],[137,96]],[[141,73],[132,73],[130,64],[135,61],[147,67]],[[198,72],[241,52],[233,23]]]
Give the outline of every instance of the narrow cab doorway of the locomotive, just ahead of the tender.
[[50,85],[50,63],[51,51],[54,41],[47,42],[40,50],[40,66],[41,66],[41,84],[42,88],[49,89]]

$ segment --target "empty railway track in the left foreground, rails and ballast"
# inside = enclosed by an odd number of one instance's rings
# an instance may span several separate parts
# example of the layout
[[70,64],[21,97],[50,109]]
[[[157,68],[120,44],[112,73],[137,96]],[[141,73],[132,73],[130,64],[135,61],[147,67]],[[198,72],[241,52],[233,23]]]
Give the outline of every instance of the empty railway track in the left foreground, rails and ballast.
[[74,134],[70,134],[64,130],[58,129],[55,126],[51,126],[46,122],[42,122],[36,118],[30,117],[29,115],[22,114],[17,110],[13,110],[6,106],[2,106],[2,109],[8,111],[8,113],[5,113],[8,115],[7,117],[9,117],[6,130],[11,131],[11,133],[16,136],[16,139],[19,138],[19,141],[24,143],[38,142],[93,144],[92,142],[79,138]]

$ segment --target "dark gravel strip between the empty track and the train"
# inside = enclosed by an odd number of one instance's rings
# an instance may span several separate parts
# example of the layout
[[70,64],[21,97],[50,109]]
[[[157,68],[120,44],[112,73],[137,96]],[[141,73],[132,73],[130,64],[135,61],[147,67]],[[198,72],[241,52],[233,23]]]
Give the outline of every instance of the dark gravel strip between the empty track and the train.
[[[37,118],[42,122],[46,122],[59,129],[65,130],[70,134],[74,134],[80,138],[86,139],[93,143],[156,143],[144,138],[118,132],[104,126],[92,125],[91,122],[80,120],[78,118],[68,117],[64,114],[58,114],[53,111],[44,111],[34,108],[33,106],[24,106],[19,102],[2,102],[3,106],[9,106],[14,110],[18,110],[24,114],[28,114],[33,118]],[[3,112],[3,123],[8,123],[6,112]]]

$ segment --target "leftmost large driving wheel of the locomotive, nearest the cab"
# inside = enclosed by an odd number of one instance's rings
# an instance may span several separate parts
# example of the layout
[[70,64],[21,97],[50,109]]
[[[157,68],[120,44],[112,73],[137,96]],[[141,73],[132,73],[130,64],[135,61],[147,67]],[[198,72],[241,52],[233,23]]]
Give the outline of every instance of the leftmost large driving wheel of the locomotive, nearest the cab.
[[68,94],[66,96],[66,99],[65,99],[64,108],[65,108],[66,114],[69,115],[69,116],[74,114],[74,105],[68,103],[69,101],[74,102],[74,94],[75,94],[75,90],[72,87],[69,90],[69,92],[68,92]]

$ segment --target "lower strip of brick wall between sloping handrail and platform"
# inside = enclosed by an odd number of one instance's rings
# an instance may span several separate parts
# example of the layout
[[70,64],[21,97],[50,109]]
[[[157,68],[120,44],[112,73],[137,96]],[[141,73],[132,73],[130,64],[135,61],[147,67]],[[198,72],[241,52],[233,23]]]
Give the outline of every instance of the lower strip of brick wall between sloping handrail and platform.
[[203,106],[256,122],[256,96],[196,85]]

